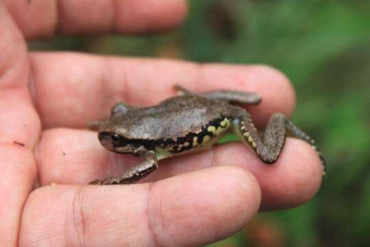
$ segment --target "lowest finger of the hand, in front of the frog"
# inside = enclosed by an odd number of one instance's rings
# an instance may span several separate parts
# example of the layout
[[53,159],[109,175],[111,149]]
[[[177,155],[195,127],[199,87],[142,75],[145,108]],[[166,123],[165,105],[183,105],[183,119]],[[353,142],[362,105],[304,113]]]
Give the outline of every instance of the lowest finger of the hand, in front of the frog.
[[25,205],[20,245],[203,246],[243,228],[259,205],[256,179],[237,167],[154,184],[43,187]]

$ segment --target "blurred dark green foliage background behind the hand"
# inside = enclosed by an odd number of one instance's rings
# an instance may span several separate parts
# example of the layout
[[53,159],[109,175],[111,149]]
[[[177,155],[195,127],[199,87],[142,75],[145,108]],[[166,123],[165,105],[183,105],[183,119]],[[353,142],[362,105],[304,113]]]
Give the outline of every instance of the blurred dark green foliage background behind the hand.
[[319,143],[327,176],[311,202],[260,213],[210,246],[369,246],[370,1],[193,0],[170,34],[58,36],[30,47],[280,69],[297,91],[293,121]]

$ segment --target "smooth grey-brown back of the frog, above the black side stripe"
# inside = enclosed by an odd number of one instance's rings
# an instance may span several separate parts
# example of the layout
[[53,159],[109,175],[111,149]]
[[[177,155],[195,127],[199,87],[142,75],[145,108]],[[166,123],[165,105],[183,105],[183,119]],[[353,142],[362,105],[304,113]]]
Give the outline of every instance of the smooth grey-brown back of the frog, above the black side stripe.
[[174,139],[200,132],[207,126],[219,126],[227,117],[229,105],[197,95],[164,100],[157,106],[130,110],[124,126],[132,139]]

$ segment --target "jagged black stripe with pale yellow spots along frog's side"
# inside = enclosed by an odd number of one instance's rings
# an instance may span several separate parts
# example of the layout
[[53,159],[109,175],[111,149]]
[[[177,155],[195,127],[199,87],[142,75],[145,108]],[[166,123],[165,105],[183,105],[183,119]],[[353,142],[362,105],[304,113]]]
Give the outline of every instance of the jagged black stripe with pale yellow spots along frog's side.
[[[162,148],[164,150],[167,150],[171,153],[180,153],[184,152],[186,150],[191,150],[193,148],[201,147],[204,138],[208,136],[209,138],[212,138],[214,135],[214,132],[208,131],[208,127],[213,126],[214,128],[227,128],[228,126],[221,126],[221,122],[224,121],[225,118],[219,118],[214,119],[208,124],[201,127],[201,130],[196,132],[190,132],[186,134],[184,137],[177,137],[177,139],[125,139],[121,137],[119,141],[114,141],[115,147],[123,147],[127,144],[130,144],[134,147],[140,147],[143,145],[147,150],[154,150],[155,148]],[[105,134],[108,134],[106,132]],[[196,145],[195,145],[196,144]]]

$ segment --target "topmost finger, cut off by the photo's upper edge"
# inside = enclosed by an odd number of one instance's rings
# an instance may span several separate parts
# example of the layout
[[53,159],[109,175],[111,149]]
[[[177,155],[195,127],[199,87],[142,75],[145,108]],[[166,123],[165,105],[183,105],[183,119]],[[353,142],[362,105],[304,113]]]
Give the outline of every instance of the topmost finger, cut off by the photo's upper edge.
[[28,38],[66,34],[167,30],[186,15],[185,0],[4,1]]

